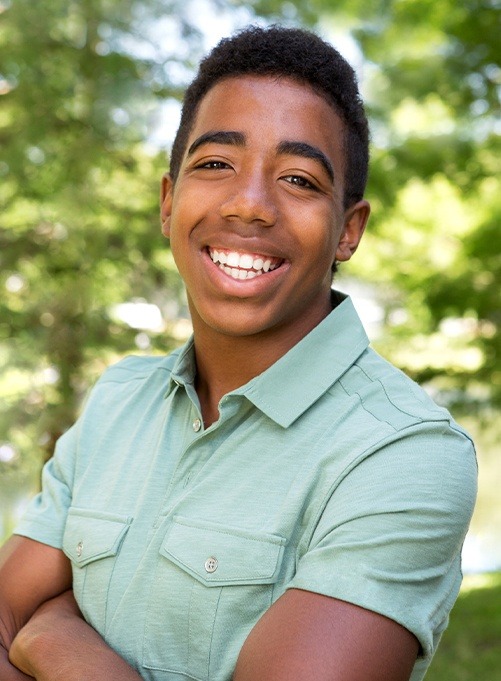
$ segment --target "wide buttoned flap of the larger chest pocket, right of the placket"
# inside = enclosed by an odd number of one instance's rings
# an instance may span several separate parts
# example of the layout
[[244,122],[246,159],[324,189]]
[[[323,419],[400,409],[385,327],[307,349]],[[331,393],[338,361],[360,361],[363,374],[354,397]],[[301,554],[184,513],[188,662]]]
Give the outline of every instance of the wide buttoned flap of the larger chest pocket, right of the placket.
[[273,584],[286,540],[176,516],[160,553],[207,586]]

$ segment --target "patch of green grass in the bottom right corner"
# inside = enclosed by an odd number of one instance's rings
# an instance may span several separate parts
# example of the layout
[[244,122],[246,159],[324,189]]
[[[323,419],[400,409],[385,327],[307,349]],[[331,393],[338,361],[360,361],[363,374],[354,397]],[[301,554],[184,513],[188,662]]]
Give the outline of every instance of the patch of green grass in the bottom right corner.
[[501,681],[501,573],[465,578],[426,681]]

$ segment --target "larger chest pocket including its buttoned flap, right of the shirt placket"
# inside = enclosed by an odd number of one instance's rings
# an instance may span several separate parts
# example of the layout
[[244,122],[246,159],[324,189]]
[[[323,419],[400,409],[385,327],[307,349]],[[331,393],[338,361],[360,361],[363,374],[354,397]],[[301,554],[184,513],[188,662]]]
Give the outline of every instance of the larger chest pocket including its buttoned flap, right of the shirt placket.
[[176,516],[160,546],[144,666],[231,679],[245,638],[272,603],[284,546],[277,535]]

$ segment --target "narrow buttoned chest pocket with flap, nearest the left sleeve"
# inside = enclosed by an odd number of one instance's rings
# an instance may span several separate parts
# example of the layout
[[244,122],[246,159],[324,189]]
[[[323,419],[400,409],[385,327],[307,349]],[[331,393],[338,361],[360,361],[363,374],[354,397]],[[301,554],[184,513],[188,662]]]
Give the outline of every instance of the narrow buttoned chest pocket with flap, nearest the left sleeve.
[[63,551],[72,564],[73,592],[85,619],[103,633],[109,583],[131,521],[115,513],[68,511]]

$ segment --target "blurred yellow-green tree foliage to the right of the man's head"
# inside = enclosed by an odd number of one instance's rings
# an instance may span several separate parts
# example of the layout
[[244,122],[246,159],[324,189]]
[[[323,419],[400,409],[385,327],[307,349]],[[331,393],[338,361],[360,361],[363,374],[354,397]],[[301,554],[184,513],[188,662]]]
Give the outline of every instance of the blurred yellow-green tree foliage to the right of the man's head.
[[489,413],[501,403],[499,3],[348,6],[363,17],[351,26],[374,137],[375,219],[354,271],[379,284],[379,345],[456,408]]

